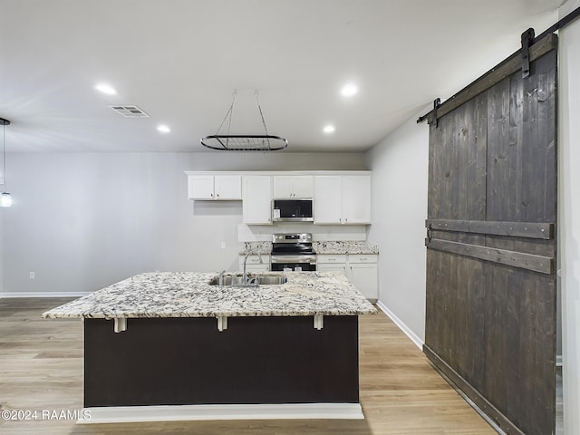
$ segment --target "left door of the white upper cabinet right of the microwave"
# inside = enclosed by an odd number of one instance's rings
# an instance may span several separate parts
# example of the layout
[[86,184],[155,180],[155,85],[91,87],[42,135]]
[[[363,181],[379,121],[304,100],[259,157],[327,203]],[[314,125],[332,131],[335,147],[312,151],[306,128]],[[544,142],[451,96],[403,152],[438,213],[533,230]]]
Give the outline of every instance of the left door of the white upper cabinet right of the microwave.
[[320,175],[314,178],[314,223],[340,224],[342,189],[339,175]]

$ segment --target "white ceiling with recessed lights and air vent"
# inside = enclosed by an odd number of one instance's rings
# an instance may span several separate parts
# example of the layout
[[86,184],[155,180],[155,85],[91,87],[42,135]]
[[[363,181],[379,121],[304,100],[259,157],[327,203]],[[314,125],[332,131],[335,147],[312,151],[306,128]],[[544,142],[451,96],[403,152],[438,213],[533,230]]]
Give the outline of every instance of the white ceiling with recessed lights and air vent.
[[[230,133],[264,134],[257,91],[287,151],[368,150],[515,52],[528,27],[554,24],[562,3],[0,0],[6,148],[221,152],[199,139],[218,131],[234,91]],[[348,82],[359,91],[345,98]]]

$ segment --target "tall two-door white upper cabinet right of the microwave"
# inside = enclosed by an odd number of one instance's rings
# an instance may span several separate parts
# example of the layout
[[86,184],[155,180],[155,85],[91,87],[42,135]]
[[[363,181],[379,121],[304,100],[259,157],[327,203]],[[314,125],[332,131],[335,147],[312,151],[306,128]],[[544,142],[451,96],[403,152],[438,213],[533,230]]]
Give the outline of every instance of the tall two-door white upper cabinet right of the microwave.
[[371,177],[329,175],[315,177],[315,224],[370,224]]

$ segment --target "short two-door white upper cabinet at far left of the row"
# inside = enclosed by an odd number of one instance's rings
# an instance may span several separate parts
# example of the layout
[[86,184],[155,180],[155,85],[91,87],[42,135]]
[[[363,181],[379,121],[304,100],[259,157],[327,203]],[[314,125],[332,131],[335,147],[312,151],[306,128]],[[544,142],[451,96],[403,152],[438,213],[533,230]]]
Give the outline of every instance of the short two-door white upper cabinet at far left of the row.
[[228,200],[242,198],[239,175],[188,175],[189,199]]

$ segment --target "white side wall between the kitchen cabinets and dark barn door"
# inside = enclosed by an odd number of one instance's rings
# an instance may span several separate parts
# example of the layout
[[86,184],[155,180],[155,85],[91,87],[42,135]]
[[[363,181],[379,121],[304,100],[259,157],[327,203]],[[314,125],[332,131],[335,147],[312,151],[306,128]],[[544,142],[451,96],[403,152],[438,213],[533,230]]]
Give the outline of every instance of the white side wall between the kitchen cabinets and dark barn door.
[[429,128],[416,117],[367,152],[372,169],[369,241],[381,247],[379,301],[407,328],[415,343],[425,339],[425,219]]

